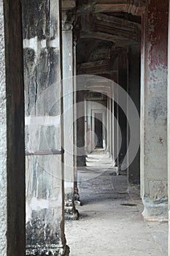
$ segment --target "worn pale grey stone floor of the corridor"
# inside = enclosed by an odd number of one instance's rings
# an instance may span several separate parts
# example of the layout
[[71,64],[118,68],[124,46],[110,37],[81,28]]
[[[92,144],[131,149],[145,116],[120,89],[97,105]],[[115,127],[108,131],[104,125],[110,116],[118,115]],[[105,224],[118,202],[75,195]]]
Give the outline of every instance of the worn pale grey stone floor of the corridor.
[[127,192],[126,176],[96,173],[79,173],[80,219],[66,222],[70,256],[167,256],[168,224],[144,222],[139,187]]

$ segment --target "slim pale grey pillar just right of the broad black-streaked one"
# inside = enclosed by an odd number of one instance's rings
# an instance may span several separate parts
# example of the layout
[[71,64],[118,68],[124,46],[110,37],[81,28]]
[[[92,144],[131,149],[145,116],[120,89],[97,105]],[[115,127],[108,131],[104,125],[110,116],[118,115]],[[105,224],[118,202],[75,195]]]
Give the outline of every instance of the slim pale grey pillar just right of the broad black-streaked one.
[[72,25],[65,23],[63,39],[63,147],[65,219],[78,219],[74,206],[74,67]]

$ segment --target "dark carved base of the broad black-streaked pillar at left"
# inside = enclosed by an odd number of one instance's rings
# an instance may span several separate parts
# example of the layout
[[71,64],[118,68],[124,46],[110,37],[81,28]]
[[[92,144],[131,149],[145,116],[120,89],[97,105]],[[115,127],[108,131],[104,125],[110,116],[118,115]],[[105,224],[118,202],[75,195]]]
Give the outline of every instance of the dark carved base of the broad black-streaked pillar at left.
[[27,246],[26,247],[26,255],[30,256],[47,256],[47,255],[53,255],[53,256],[69,256],[69,246],[58,247],[55,245],[51,245],[50,247],[47,246]]

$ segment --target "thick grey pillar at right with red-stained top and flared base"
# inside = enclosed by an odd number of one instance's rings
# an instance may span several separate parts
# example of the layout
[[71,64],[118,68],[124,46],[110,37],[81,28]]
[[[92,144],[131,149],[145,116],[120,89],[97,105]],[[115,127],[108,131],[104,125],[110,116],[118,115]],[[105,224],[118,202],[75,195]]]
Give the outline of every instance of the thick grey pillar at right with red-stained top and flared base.
[[142,17],[141,185],[144,219],[167,219],[168,0]]

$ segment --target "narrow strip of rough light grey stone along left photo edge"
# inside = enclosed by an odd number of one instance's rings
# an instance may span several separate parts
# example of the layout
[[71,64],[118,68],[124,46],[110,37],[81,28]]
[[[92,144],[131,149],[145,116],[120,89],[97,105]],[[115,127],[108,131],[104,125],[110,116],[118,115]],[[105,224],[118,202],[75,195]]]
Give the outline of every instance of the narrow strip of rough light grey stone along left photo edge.
[[7,255],[7,113],[4,56],[4,9],[0,1],[0,251]]

